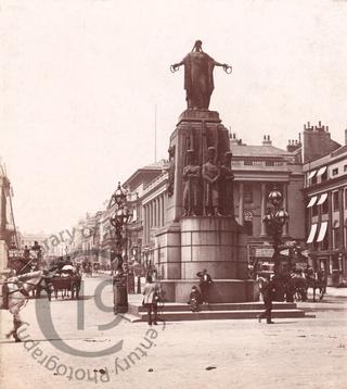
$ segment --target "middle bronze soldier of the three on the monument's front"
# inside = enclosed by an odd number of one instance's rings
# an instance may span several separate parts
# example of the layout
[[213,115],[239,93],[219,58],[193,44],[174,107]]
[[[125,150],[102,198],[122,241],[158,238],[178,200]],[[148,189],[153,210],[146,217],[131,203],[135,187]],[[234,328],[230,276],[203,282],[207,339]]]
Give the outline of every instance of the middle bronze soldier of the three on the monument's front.
[[216,149],[207,149],[207,162],[203,165],[202,176],[204,183],[204,213],[207,216],[221,216],[219,213],[218,184],[220,172],[215,165]]

